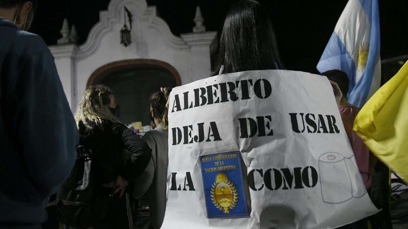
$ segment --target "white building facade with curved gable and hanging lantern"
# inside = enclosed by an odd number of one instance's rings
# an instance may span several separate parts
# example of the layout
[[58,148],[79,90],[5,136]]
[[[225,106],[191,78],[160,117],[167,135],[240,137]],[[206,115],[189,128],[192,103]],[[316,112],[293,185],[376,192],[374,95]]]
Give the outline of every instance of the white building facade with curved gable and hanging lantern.
[[[133,15],[131,44],[120,43],[120,30]],[[120,70],[157,68],[173,75],[177,86],[211,75],[211,51],[216,49],[217,33],[206,32],[204,19],[197,7],[193,33],[180,37],[157,16],[155,6],[146,0],[111,0],[107,11],[100,12],[100,21],[80,46],[75,28],[70,31],[64,22],[58,45],[50,46],[64,91],[75,111],[87,86],[99,84],[104,77]],[[157,88],[160,89],[160,88]]]

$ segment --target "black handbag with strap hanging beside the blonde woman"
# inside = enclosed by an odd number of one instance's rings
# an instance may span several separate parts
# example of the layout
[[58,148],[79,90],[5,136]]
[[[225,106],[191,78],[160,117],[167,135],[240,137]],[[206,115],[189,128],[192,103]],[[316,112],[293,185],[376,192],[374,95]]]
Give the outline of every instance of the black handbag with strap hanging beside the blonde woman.
[[70,227],[90,227],[104,220],[112,195],[95,184],[92,150],[78,145],[76,151],[75,165],[58,191],[55,205],[60,210],[60,221],[63,224]]

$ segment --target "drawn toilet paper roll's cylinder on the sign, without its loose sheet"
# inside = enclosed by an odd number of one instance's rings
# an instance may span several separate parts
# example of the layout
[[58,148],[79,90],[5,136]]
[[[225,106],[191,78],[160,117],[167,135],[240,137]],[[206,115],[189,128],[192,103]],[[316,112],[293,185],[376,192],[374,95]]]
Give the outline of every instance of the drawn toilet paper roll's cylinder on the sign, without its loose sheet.
[[328,152],[319,157],[320,184],[325,203],[343,203],[353,198],[352,185],[343,155]]

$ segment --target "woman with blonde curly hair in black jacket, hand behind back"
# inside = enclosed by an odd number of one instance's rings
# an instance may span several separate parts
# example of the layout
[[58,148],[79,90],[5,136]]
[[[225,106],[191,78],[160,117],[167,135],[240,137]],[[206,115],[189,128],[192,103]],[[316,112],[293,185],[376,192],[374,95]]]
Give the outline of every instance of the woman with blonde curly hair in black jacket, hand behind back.
[[86,89],[75,114],[79,143],[92,150],[95,187],[113,194],[105,219],[92,225],[94,229],[133,228],[128,181],[142,173],[151,159],[149,146],[120,123],[115,110],[111,90],[98,85]]

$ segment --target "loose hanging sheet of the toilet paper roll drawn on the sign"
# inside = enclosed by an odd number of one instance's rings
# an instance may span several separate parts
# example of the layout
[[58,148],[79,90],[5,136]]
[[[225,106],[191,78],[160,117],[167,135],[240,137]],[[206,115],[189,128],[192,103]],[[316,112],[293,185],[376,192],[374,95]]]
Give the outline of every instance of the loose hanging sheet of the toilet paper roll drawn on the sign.
[[354,155],[350,158],[346,158],[345,161],[347,165],[348,175],[350,176],[353,197],[359,198],[361,196],[364,196],[364,194],[366,194],[367,192],[367,189],[357,167]]

